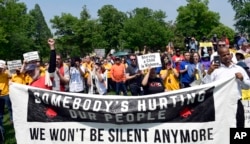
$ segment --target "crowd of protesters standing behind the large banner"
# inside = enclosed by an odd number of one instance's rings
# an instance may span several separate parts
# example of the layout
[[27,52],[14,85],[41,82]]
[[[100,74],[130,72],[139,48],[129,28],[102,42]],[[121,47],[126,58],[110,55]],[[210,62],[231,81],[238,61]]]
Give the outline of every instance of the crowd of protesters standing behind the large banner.
[[[85,56],[64,59],[55,51],[54,39],[49,39],[48,62],[23,61],[21,68],[10,74],[4,61],[0,61],[0,127],[3,129],[5,104],[12,121],[9,85],[19,83],[38,88],[86,94],[114,94],[141,96],[187,88],[235,75],[239,90],[249,89],[250,44],[240,39],[239,47],[230,49],[228,39],[213,43],[194,37],[186,43],[187,49],[166,46],[164,51],[144,51],[128,56]],[[137,56],[152,52],[160,53],[162,66],[140,70]],[[219,59],[215,59],[219,56]],[[240,99],[240,97],[239,97]],[[242,125],[242,124],[241,124]]]

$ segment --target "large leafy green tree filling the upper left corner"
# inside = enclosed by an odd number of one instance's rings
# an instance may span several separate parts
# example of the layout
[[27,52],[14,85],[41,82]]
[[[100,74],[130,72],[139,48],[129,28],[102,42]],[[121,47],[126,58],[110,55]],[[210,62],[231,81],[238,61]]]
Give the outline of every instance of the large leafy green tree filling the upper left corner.
[[22,59],[23,53],[32,48],[28,37],[30,16],[24,3],[17,0],[0,2],[0,57],[5,60]]

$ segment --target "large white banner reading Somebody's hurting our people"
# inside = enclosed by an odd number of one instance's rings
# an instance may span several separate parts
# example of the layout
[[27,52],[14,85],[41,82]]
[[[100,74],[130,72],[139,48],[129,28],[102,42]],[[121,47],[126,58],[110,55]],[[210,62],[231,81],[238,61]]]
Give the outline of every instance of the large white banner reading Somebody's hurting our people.
[[18,144],[228,144],[238,95],[235,78],[140,97],[10,86]]

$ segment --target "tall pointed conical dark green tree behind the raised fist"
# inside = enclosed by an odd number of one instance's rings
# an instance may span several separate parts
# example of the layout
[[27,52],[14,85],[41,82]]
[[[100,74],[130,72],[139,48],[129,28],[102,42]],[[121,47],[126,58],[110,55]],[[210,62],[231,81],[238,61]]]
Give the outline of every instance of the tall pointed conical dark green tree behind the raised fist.
[[44,19],[43,13],[38,4],[35,5],[35,8],[29,12],[31,18],[30,21],[30,34],[34,40],[34,50],[38,50],[41,57],[48,57],[49,49],[48,44],[46,43],[47,39],[52,37],[51,31]]

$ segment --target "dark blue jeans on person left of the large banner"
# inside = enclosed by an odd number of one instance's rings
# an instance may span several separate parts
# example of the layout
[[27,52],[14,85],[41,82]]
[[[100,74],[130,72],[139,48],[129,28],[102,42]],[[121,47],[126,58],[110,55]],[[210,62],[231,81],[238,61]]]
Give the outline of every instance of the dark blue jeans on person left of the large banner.
[[0,128],[3,129],[3,116],[4,116],[4,108],[5,104],[7,105],[9,114],[10,114],[10,120],[13,120],[12,117],[12,108],[11,108],[11,101],[9,95],[0,96]]

